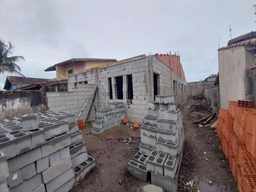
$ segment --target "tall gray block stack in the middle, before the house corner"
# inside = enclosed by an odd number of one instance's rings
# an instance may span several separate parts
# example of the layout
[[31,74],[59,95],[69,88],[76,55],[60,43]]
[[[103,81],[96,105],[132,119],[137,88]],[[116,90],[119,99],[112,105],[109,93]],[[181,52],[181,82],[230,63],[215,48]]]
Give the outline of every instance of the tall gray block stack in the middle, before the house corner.
[[128,171],[176,192],[184,144],[182,112],[176,110],[175,95],[156,95],[155,100],[148,102],[148,115],[140,126],[139,151],[128,162]]

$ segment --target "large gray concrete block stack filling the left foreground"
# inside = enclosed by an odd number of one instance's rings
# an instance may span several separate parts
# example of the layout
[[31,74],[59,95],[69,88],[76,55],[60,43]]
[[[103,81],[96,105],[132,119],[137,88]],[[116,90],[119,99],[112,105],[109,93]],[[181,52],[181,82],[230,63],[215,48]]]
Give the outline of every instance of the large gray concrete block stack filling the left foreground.
[[0,120],[0,191],[68,192],[82,180],[95,160],[75,120],[53,111]]

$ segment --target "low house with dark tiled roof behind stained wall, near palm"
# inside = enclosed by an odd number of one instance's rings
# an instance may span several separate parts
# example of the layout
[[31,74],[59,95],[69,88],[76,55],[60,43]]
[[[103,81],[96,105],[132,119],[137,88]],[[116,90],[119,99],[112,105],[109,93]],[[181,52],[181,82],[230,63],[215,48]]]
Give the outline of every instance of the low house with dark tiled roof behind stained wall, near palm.
[[47,82],[49,79],[7,76],[4,84],[4,90],[15,90],[34,83]]

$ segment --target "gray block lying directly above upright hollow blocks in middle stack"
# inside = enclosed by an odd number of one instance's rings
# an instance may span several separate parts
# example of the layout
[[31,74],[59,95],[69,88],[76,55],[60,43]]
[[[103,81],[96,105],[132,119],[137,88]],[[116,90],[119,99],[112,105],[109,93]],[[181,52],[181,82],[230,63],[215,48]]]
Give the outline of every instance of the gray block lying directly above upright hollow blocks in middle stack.
[[178,144],[157,139],[156,150],[163,153],[167,153],[169,155],[176,156],[178,154]]

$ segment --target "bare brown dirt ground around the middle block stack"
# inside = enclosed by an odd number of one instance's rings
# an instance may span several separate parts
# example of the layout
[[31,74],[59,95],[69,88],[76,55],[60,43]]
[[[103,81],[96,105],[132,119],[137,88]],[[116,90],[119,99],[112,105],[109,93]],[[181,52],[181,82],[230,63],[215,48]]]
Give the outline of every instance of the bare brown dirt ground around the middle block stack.
[[[212,113],[207,102],[188,100],[181,110],[185,143],[178,191],[238,192],[215,129],[193,123]],[[129,160],[139,150],[139,131],[120,125],[100,135],[88,134],[90,126],[85,126],[82,132],[88,154],[96,160],[96,168],[72,192],[141,192],[143,186],[150,184],[127,171]],[[123,142],[125,138],[132,138],[132,143]]]

